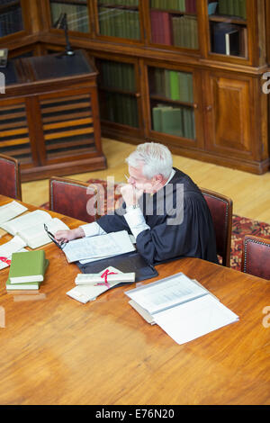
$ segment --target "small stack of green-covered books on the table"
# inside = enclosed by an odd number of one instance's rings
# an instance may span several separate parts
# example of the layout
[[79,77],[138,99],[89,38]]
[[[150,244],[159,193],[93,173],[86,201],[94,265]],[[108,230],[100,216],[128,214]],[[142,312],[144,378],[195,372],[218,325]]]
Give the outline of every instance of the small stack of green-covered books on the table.
[[6,289],[11,290],[38,290],[44,280],[49,260],[45,251],[26,251],[14,253],[9,269]]

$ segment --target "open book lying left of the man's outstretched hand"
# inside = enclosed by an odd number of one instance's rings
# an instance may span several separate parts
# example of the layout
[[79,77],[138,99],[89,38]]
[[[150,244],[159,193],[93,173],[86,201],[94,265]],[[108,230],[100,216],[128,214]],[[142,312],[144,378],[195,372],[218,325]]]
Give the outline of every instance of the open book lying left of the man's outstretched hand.
[[12,235],[17,234],[29,247],[38,248],[51,242],[44,229],[44,223],[53,235],[58,230],[69,229],[62,220],[52,218],[47,211],[42,210],[31,211],[16,219],[6,221],[0,224],[0,227]]

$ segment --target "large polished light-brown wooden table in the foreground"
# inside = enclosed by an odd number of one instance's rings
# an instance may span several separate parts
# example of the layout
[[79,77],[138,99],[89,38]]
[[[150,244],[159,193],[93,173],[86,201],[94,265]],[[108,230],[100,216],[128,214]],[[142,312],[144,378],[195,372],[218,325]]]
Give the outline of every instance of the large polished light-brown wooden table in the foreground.
[[4,288],[8,269],[0,272],[1,404],[270,404],[269,282],[194,258],[157,266],[158,278],[198,279],[239,316],[179,346],[130,307],[124,291],[134,284],[85,305],[69,298],[76,265],[53,244],[44,249],[40,301],[18,302]]

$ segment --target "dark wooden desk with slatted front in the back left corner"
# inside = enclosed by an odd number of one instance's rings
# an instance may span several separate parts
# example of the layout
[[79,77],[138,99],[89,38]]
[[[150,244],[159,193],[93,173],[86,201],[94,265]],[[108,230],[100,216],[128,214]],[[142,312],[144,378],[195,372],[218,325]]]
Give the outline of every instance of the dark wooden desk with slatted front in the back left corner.
[[106,168],[97,71],[84,50],[17,58],[3,72],[0,153],[19,160],[23,181]]

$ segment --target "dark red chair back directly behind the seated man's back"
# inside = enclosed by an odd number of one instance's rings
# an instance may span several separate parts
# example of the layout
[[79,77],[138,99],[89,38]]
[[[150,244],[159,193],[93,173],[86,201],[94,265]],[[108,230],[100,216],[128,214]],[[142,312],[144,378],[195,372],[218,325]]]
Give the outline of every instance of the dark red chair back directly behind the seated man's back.
[[230,245],[232,226],[232,200],[225,195],[200,188],[205,198],[216,234],[217,253],[222,258],[222,266],[230,266]]

